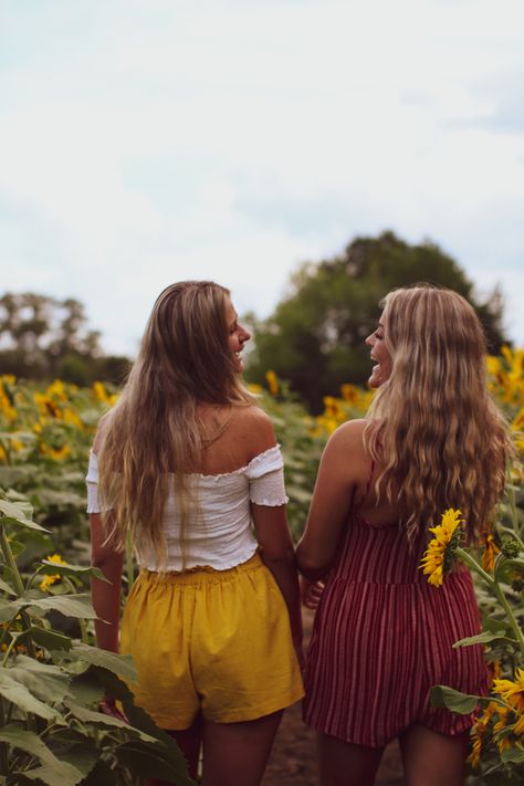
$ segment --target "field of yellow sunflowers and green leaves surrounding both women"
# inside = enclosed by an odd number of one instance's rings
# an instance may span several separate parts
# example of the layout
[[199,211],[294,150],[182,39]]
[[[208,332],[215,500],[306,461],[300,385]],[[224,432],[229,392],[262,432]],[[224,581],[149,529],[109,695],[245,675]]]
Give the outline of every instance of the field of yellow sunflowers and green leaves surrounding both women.
[[[488,370],[522,458],[524,352],[504,348],[489,358]],[[272,371],[266,386],[252,386],[252,392],[282,446],[289,520],[297,537],[328,436],[361,417],[371,394],[345,385],[314,417]],[[193,783],[170,737],[133,704],[126,688],[133,663],[94,640],[90,578],[99,574],[90,567],[84,476],[96,425],[116,395],[102,381],[77,388],[55,380],[40,388],[0,377],[0,784],[133,786],[153,763],[158,777]],[[444,565],[463,559],[474,573],[482,611],[482,633],[457,646],[484,643],[490,696],[433,689],[433,702],[454,712],[480,706],[469,765],[469,783],[479,786],[524,777],[523,506],[515,463],[507,469],[496,528],[482,549],[461,546],[459,512],[434,523],[441,570],[429,579],[438,587],[446,581]],[[439,567],[434,559],[428,564]],[[133,580],[129,559],[124,595]],[[106,691],[122,701],[128,724],[98,711]]]

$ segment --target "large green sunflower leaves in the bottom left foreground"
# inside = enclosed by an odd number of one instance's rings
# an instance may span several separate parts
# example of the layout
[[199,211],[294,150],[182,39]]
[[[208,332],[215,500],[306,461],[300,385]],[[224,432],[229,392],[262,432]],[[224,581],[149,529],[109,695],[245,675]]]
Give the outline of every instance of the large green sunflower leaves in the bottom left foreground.
[[[161,775],[190,786],[193,782],[177,745],[135,708],[122,681],[136,681],[130,658],[88,643],[86,620],[95,612],[90,597],[78,590],[85,578],[101,578],[99,570],[57,557],[33,565],[30,574],[19,570],[13,535],[22,532],[28,543],[42,537],[42,531],[27,501],[1,496],[0,782],[138,786],[142,776]],[[45,589],[42,584],[32,588],[38,576],[73,591],[51,594],[45,581]],[[53,630],[51,610],[78,620],[84,640]],[[105,695],[122,701],[127,722],[98,711]]]

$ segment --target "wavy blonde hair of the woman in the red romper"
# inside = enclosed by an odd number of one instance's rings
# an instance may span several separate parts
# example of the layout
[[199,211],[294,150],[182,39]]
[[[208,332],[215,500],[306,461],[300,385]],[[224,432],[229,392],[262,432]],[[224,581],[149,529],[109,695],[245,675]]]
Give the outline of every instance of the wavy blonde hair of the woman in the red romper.
[[503,494],[511,452],[486,388],[482,326],[461,295],[429,284],[395,290],[381,305],[391,374],[364,430],[382,468],[377,497],[395,497],[411,544],[448,507],[462,511],[476,541]]

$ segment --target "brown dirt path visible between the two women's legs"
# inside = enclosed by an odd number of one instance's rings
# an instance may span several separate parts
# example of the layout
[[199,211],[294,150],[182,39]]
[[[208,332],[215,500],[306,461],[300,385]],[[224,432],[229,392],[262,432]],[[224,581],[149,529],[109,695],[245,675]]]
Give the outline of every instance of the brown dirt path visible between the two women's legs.
[[[304,610],[308,639],[313,616]],[[402,765],[397,743],[389,745],[378,772],[376,786],[401,786]],[[302,722],[300,704],[286,710],[276,735],[262,786],[317,786],[315,733]]]

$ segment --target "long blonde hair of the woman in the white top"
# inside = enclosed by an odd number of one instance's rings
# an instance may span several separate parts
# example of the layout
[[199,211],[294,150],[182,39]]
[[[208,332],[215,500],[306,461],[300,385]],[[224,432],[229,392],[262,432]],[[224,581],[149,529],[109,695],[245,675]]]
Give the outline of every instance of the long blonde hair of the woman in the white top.
[[[212,281],[171,284],[158,296],[138,357],[95,442],[99,496],[108,541],[165,564],[163,513],[169,473],[181,503],[181,548],[189,509],[186,482],[198,470],[205,438],[198,405],[250,405],[229,348],[229,290]],[[97,444],[101,444],[98,451]]]

